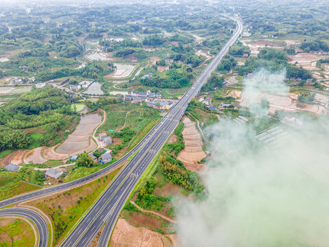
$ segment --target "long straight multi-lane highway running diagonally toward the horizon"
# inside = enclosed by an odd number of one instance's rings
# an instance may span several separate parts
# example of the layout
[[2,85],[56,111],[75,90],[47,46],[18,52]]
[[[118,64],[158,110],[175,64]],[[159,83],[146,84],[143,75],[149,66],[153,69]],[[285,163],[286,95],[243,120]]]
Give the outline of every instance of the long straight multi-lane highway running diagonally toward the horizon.
[[121,170],[117,178],[104,191],[99,200],[95,202],[88,213],[75,226],[61,246],[88,246],[93,240],[101,226],[105,224],[98,246],[108,246],[110,235],[114,228],[115,222],[119,217],[119,213],[125,204],[125,201],[132,193],[134,186],[141,178],[148,165],[153,161],[156,154],[161,150],[164,143],[167,141],[173,130],[175,130],[178,122],[184,115],[188,106],[188,102],[199,93],[203,84],[210,77],[223,56],[228,52],[231,45],[234,44],[243,30],[242,23],[234,20],[237,23],[236,32],[228,43],[221,49],[219,54],[212,62],[204,69],[195,81],[193,86],[184,94],[180,101],[165,115],[156,127],[145,137],[143,143],[132,160]]

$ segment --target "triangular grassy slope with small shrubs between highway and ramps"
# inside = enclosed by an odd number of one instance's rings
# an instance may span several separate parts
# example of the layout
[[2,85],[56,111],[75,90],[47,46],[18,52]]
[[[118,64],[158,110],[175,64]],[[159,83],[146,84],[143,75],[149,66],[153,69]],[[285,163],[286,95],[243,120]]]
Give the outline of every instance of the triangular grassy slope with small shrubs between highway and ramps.
[[27,203],[42,210],[51,219],[54,230],[54,245],[61,242],[65,235],[69,233],[120,169],[121,167],[118,167],[110,174],[87,185]]

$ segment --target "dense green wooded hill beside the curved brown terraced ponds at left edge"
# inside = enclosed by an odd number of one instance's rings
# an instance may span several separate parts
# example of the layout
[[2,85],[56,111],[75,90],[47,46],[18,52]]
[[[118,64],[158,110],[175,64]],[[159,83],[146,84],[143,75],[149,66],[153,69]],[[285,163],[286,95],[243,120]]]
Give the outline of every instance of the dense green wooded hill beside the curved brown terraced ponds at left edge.
[[[0,151],[53,145],[71,124],[69,97],[46,86],[12,99],[0,109]],[[21,129],[34,128],[30,134]],[[42,133],[42,134],[41,134]]]

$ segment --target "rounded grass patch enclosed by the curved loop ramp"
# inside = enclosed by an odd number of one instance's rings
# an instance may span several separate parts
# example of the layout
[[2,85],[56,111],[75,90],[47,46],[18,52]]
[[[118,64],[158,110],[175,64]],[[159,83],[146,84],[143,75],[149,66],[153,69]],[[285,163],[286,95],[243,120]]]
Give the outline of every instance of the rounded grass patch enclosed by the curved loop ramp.
[[21,219],[0,219],[1,247],[33,247],[36,242],[32,227]]

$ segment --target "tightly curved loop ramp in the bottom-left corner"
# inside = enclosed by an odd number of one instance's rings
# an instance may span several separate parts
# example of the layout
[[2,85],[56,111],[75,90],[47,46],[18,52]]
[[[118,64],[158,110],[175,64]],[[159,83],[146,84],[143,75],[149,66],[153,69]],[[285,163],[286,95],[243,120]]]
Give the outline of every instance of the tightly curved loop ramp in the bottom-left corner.
[[29,220],[32,220],[32,222],[36,224],[36,228],[38,228],[38,233],[39,233],[38,246],[39,247],[48,246],[48,237],[49,237],[48,226],[41,215],[30,209],[23,209],[23,208],[0,209],[0,216],[9,216],[9,215],[27,217]]

